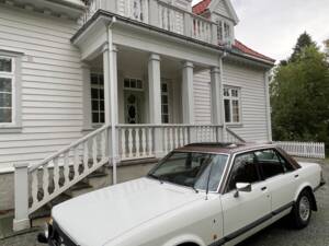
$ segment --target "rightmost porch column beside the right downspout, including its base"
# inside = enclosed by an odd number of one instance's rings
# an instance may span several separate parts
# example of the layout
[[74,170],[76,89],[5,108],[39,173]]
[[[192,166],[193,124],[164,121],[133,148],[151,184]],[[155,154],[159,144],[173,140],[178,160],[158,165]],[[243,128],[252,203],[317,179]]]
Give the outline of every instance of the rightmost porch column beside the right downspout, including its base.
[[[223,82],[220,68],[211,68],[211,90],[212,90],[212,124],[223,126]],[[217,141],[224,141],[223,130],[217,128]]]

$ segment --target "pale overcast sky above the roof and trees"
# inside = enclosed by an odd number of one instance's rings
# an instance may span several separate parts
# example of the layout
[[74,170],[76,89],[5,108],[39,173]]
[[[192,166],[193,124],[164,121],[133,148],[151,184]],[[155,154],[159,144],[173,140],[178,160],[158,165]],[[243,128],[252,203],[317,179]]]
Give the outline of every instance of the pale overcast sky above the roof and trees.
[[[200,0],[193,0],[193,3]],[[276,60],[288,57],[307,32],[322,45],[329,38],[329,0],[231,0],[239,24],[236,38]]]

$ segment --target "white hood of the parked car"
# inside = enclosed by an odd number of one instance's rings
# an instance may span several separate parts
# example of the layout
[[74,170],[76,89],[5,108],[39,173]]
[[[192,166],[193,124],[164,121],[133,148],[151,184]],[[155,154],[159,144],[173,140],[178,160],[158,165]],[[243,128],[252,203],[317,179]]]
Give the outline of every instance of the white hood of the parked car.
[[101,246],[198,199],[192,189],[139,178],[60,203],[52,216],[78,245]]

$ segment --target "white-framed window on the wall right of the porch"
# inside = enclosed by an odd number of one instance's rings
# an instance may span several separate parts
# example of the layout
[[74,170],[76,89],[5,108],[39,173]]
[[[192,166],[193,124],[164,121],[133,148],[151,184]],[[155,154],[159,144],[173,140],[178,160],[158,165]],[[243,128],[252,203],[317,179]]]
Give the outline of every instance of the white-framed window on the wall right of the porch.
[[224,87],[225,121],[228,124],[241,122],[240,89]]

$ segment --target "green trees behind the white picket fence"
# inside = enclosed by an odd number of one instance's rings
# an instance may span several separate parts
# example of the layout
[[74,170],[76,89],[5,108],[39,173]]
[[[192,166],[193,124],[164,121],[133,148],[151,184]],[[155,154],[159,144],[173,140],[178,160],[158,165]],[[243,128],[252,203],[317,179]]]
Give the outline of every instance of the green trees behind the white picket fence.
[[298,38],[291,59],[274,69],[270,85],[273,138],[321,141],[329,147],[329,66],[315,43],[305,40]]

